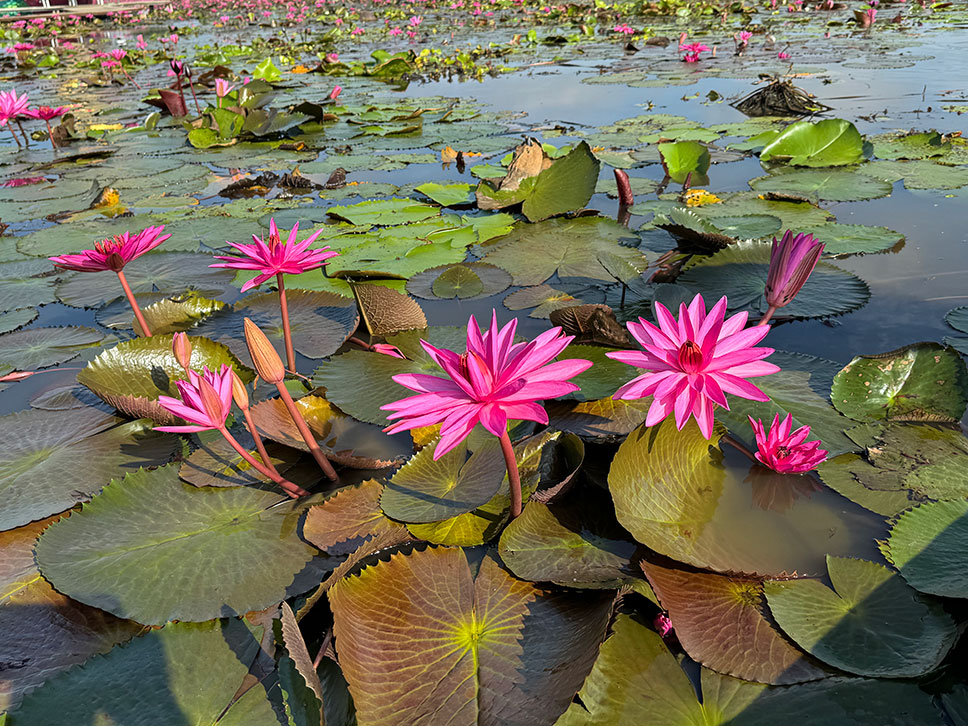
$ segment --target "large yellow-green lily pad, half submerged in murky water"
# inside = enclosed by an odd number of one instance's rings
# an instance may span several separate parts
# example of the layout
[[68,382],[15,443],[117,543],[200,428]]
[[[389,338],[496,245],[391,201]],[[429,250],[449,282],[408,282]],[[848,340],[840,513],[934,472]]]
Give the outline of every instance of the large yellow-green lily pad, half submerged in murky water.
[[800,476],[768,482],[792,489],[788,507],[751,503],[748,461],[724,458],[721,435],[707,441],[694,422],[680,432],[667,419],[619,447],[608,484],[636,540],[696,567],[750,574],[816,573],[827,553],[875,554],[878,519],[832,492],[801,491]]

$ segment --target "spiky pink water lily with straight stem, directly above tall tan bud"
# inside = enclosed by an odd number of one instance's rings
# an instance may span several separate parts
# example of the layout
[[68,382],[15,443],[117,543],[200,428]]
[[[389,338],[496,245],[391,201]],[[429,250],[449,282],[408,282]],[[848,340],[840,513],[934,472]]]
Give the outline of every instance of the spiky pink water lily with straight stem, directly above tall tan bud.
[[296,371],[296,353],[292,346],[292,331],[289,328],[289,305],[286,302],[286,285],[284,275],[299,275],[303,272],[315,270],[326,264],[326,260],[336,257],[338,252],[329,247],[311,250],[309,246],[316,241],[322,230],[309,235],[302,242],[296,241],[299,223],[293,225],[289,232],[289,239],[283,242],[279,238],[276,220],[269,220],[269,236],[263,240],[252,235],[253,244],[237,244],[228,242],[241,257],[216,255],[215,259],[223,262],[210,265],[211,267],[227,267],[232,270],[258,270],[259,274],[242,286],[242,292],[258,287],[271,277],[276,278],[279,288],[279,307],[282,309],[282,330],[286,339],[286,359],[289,370]]

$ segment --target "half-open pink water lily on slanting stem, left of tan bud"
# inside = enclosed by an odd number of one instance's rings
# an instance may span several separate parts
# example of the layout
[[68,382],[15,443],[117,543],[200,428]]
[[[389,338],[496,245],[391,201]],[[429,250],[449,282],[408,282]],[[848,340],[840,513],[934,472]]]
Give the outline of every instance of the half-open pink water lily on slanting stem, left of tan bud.
[[[158,403],[169,413],[185,419],[185,426],[156,426],[155,431],[167,431],[176,434],[198,433],[200,431],[217,430],[229,443],[236,453],[241,456],[253,469],[268,477],[285,492],[298,498],[309,494],[305,489],[284,479],[279,472],[268,464],[256,461],[245,448],[236,440],[225,425],[225,420],[232,411],[232,382],[235,373],[223,365],[218,371],[210,371],[207,367],[201,375],[189,371],[187,381],[175,381],[181,400],[171,396],[159,396]],[[262,453],[260,452],[260,456]],[[271,468],[270,468],[271,467]]]

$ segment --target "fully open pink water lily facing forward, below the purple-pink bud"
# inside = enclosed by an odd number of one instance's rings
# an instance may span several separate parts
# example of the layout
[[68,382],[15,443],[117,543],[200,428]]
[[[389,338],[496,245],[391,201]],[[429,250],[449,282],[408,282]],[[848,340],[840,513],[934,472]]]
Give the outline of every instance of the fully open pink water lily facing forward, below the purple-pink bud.
[[679,306],[679,319],[661,303],[656,303],[658,326],[639,318],[628,323],[629,332],[644,351],[606,353],[609,358],[645,368],[615,392],[614,398],[635,400],[653,396],[646,416],[646,426],[654,426],[675,414],[680,430],[694,416],[699,430],[707,439],[713,433],[716,406],[729,409],[726,394],[753,401],[770,397],[747,381],[780,370],[763,360],[772,348],[756,348],[769,332],[767,326],[745,328],[747,313],[726,319],[723,297],[707,313],[702,295],[696,295],[687,308]]

